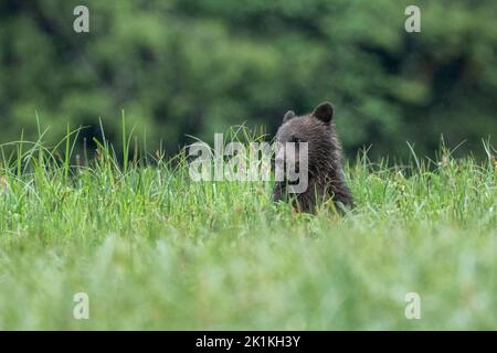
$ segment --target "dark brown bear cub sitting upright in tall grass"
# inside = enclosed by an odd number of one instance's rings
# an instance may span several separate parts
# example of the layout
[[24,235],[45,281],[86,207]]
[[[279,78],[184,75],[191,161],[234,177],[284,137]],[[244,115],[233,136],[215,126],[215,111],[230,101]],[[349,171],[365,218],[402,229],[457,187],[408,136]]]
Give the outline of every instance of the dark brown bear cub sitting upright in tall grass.
[[[293,200],[297,211],[308,213],[314,213],[316,206],[327,200],[332,200],[338,210],[353,205],[352,193],[345,181],[341,146],[330,103],[321,103],[313,113],[299,117],[292,110],[287,111],[277,131],[276,141],[282,146],[294,142],[295,156],[298,156],[299,142],[307,142],[308,186],[304,192],[292,194],[288,192],[288,181],[276,182],[273,194],[275,201]],[[294,158],[293,161],[297,159]],[[285,167],[288,168],[292,161],[285,152],[277,152],[276,163],[286,163]],[[298,171],[298,162],[293,167]]]

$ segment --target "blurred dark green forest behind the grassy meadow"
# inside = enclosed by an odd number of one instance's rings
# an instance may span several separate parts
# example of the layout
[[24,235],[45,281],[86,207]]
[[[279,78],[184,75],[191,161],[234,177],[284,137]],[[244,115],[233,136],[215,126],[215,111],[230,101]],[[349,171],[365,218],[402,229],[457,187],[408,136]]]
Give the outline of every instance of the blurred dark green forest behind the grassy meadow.
[[[89,9],[89,33],[73,10]],[[409,4],[421,33],[406,33]],[[432,154],[443,133],[484,156],[497,135],[495,0],[2,0],[0,142],[38,135],[120,140],[120,114],[152,150],[177,152],[245,122],[336,106],[349,157]]]

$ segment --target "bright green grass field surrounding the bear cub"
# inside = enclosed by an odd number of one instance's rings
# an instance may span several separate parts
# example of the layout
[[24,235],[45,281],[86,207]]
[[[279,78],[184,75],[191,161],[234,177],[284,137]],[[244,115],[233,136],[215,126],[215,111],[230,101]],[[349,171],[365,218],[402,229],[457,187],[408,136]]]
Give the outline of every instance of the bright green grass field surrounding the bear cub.
[[[76,168],[67,138],[12,146],[0,329],[497,329],[489,146],[480,162],[349,159],[357,207],[345,216],[295,214],[269,183],[194,183],[181,160],[118,165],[105,145]],[[88,320],[73,317],[76,292]],[[408,292],[420,320],[404,315]]]

